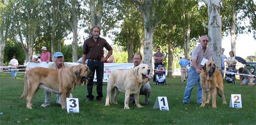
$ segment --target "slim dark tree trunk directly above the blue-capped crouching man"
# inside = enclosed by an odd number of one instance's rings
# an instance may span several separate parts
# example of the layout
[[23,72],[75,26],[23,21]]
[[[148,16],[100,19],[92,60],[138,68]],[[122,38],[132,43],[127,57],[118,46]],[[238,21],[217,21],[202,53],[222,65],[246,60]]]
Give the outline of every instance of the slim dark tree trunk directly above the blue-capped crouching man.
[[52,38],[51,38],[51,57],[53,60],[53,54],[55,53],[55,27],[56,27],[56,6],[54,0],[52,0]]

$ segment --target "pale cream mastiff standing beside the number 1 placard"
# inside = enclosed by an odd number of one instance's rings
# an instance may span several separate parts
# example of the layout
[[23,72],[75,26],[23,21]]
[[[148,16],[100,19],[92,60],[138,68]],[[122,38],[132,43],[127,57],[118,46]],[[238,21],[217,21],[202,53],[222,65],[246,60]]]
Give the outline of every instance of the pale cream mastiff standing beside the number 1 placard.
[[[108,76],[108,88],[105,106],[111,103],[117,104],[116,97],[119,91],[125,92],[125,109],[129,109],[130,94],[134,94],[135,104],[142,108],[139,103],[140,88],[148,82],[150,69],[148,65],[140,64],[128,71],[115,70]],[[116,93],[114,93],[116,90]]]

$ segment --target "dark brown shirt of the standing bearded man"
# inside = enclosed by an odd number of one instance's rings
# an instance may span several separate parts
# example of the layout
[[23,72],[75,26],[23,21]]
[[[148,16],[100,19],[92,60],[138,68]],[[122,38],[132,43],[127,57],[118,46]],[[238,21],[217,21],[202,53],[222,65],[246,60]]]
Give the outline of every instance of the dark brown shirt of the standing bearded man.
[[83,54],[86,54],[86,59],[101,60],[104,55],[104,47],[108,51],[113,49],[105,39],[99,37],[95,42],[93,38],[90,37],[84,41]]

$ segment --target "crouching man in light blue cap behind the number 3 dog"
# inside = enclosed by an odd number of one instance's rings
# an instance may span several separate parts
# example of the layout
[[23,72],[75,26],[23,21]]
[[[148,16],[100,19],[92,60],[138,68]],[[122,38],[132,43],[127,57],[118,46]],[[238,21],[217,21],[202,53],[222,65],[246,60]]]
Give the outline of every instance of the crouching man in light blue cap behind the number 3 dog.
[[[48,66],[48,68],[52,68],[52,69],[61,69],[61,68],[67,68],[67,67],[71,67],[72,65],[67,64],[64,62],[64,55],[61,52],[55,52],[54,55],[54,63],[52,63],[51,65]],[[51,92],[44,90],[44,95],[45,95],[45,99],[44,99],[44,104],[41,105],[41,107],[48,107],[51,105]],[[56,95],[57,96],[57,104],[61,104],[61,97],[59,94]],[[72,98],[72,94],[70,93],[70,98]]]

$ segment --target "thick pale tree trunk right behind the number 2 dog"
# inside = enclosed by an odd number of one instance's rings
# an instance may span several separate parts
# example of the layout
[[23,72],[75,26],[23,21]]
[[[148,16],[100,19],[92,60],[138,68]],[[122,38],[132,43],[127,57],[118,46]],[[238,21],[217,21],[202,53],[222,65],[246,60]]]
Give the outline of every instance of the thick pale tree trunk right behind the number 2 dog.
[[216,68],[221,68],[221,16],[220,0],[208,0],[209,48]]

